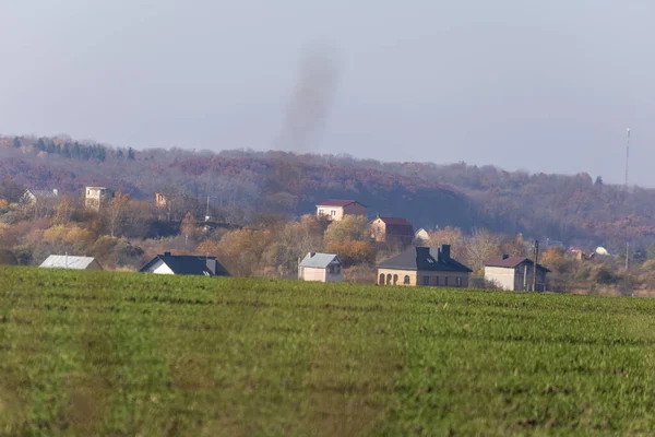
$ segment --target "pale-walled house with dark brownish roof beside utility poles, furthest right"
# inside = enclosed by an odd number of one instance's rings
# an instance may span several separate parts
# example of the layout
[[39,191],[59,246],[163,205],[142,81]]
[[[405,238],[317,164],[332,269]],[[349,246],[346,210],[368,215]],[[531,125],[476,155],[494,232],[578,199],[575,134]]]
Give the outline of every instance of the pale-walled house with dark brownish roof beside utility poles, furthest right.
[[[528,291],[533,287],[535,263],[529,258],[501,255],[485,262],[485,280],[502,290]],[[546,290],[550,270],[537,263],[537,291]]]

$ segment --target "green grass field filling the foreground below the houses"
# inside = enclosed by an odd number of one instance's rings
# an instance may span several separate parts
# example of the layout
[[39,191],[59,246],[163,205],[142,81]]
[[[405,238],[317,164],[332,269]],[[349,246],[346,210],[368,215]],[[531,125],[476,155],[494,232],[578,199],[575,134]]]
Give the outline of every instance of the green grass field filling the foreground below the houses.
[[655,300],[0,269],[0,434],[652,435]]

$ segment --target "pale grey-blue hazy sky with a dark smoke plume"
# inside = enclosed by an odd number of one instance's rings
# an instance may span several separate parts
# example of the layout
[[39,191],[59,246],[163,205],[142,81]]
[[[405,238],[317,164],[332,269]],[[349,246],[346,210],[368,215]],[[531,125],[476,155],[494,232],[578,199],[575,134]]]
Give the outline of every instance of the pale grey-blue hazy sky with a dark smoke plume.
[[0,133],[655,187],[652,0],[0,0]]

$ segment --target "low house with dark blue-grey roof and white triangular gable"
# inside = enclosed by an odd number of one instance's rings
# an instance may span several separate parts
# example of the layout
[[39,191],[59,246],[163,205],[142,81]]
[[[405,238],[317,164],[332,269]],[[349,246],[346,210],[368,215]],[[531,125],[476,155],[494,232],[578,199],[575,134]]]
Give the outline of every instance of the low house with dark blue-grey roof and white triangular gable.
[[196,255],[171,255],[164,252],[150,260],[140,270],[141,273],[191,274],[199,276],[229,276],[216,257]]

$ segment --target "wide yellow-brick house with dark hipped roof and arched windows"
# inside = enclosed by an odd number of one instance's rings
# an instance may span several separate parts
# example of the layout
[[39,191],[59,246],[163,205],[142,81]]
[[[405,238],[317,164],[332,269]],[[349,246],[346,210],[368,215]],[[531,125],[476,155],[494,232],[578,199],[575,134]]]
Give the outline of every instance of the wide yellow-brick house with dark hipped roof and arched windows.
[[473,270],[450,256],[450,246],[410,247],[376,265],[379,285],[467,287]]

